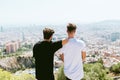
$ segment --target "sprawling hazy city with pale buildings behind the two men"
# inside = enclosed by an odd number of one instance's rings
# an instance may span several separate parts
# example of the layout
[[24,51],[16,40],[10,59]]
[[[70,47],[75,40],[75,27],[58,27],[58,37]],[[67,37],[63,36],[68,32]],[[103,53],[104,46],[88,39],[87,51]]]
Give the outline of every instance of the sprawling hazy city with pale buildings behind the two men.
[[[94,63],[102,59],[103,66],[110,68],[114,64],[120,63],[120,21],[108,20],[89,24],[78,23],[76,25],[76,38],[86,43],[86,60],[84,64]],[[6,57],[16,56],[16,53],[19,52],[17,57],[27,56],[32,58],[32,48],[36,42],[43,40],[42,30],[45,27],[55,30],[53,41],[62,40],[67,37],[65,24],[0,25],[0,68],[8,70],[9,65],[7,66],[7,62],[4,60]],[[55,73],[63,64],[57,55],[58,53],[55,53],[54,58]],[[6,61],[9,62],[9,59]],[[34,66],[29,68],[31,69],[28,73],[34,75]],[[27,70],[27,68],[24,70]],[[15,72],[19,74],[19,72]],[[120,76],[120,73],[118,76]]]

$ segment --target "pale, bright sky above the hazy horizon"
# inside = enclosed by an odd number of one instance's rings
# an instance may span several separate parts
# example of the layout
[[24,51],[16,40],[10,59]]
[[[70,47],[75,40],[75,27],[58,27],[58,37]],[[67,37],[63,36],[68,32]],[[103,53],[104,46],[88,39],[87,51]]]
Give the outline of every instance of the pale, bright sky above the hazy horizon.
[[0,24],[120,20],[120,0],[0,0]]

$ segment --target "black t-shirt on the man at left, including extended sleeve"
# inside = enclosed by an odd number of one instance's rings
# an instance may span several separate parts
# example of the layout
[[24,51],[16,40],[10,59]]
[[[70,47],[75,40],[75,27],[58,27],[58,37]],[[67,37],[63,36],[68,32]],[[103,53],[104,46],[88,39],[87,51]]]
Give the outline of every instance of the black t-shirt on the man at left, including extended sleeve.
[[62,47],[62,41],[38,42],[33,47],[33,57],[36,65],[36,78],[52,80],[54,53]]

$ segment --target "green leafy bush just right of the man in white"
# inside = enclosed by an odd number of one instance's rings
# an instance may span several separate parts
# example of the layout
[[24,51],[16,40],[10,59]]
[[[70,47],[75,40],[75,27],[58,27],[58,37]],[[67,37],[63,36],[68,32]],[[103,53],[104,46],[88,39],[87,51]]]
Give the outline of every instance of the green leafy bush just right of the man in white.
[[112,80],[101,63],[84,64],[84,78],[82,80]]

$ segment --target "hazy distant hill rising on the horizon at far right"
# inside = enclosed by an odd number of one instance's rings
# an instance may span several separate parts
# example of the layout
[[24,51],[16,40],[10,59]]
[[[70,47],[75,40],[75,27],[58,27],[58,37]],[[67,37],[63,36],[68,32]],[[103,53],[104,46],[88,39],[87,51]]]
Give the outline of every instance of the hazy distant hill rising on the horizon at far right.
[[79,25],[83,29],[87,29],[89,31],[104,31],[104,30],[116,30],[117,32],[120,31],[120,20],[105,20],[101,22],[96,23],[90,23],[90,24],[83,24]]

